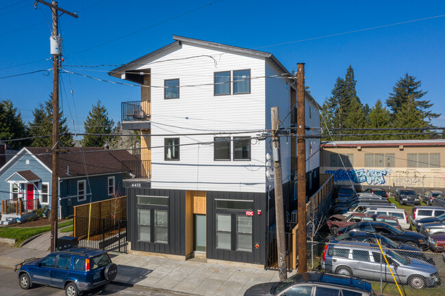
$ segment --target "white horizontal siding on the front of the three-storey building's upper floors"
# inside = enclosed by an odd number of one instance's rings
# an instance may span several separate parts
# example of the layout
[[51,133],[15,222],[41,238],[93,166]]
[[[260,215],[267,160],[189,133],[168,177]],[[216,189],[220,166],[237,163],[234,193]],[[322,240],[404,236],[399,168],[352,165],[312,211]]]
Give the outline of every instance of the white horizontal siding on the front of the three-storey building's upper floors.
[[[194,58],[160,62],[183,57]],[[153,135],[265,129],[264,58],[182,44],[141,68],[151,68]],[[214,96],[214,72],[242,69],[251,69],[251,94]],[[164,88],[155,88],[163,87],[164,79],[179,79],[178,99],[164,100]],[[212,135],[179,138],[181,145],[214,140]],[[152,137],[151,143],[160,147],[151,152],[153,188],[265,191],[264,142],[253,141],[251,161],[214,161],[212,144],[181,146],[179,161],[164,161],[164,137]]]

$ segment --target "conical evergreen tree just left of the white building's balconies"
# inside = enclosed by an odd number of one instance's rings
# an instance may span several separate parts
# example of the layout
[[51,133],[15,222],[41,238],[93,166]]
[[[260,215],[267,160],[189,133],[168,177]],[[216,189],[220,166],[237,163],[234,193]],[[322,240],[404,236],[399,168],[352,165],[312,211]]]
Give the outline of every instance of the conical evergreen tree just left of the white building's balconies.
[[[97,100],[96,105],[92,105],[91,111],[84,122],[85,133],[110,134],[114,126],[114,121],[108,118],[108,111],[101,105],[101,100]],[[101,147],[110,142],[110,137],[105,135],[85,135],[82,145],[84,147]]]

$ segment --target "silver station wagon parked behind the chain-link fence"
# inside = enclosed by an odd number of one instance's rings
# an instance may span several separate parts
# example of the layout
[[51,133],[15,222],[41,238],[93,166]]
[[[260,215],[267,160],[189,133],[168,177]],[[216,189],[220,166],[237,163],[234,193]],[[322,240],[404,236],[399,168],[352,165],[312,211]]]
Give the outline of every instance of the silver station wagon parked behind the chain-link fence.
[[[435,266],[406,257],[398,252],[383,249],[392,271],[396,271],[398,282],[413,288],[424,288],[440,284]],[[394,282],[385,264],[378,245],[358,241],[339,241],[327,243],[323,252],[321,267],[328,272],[358,276],[367,280]]]

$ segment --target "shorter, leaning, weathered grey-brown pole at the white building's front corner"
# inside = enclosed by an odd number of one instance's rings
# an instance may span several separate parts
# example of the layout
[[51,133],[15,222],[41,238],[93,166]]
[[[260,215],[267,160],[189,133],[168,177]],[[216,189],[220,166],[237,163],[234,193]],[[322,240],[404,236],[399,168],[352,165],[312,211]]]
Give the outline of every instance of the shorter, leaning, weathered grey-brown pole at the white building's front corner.
[[275,184],[275,217],[277,221],[277,254],[278,272],[280,280],[288,278],[286,270],[286,249],[284,237],[284,205],[283,205],[283,177],[281,175],[281,151],[280,139],[277,135],[279,129],[278,107],[270,109],[272,119],[272,153],[273,153],[273,174]]

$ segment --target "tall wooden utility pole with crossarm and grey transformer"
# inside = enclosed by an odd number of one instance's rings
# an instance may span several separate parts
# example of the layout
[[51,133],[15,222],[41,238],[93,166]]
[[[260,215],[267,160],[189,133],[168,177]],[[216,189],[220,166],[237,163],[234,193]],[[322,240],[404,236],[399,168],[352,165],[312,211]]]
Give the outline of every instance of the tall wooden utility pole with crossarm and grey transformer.
[[[51,252],[55,251],[57,234],[58,234],[58,202],[59,202],[59,56],[62,55],[62,41],[59,36],[59,11],[64,12],[70,16],[77,18],[76,14],[68,12],[62,8],[58,8],[58,3],[53,1],[48,3],[43,0],[36,0],[34,4],[37,8],[37,2],[47,5],[53,12],[53,33],[51,37],[53,40],[59,40],[58,53],[53,53],[51,46],[51,55],[53,55],[53,179],[51,182]],[[53,41],[51,40],[51,41]]]

